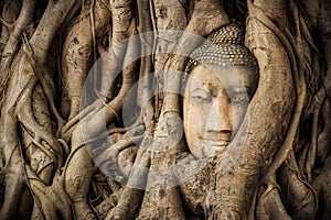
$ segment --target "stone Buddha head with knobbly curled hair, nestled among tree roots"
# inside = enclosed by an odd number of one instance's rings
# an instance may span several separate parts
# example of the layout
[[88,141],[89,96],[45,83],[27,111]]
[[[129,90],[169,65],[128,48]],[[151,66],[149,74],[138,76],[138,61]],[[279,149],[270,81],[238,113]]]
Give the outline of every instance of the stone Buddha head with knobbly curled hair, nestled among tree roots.
[[227,24],[190,56],[183,84],[183,120],[195,157],[226,150],[257,88],[257,62],[245,47],[244,36],[244,26]]

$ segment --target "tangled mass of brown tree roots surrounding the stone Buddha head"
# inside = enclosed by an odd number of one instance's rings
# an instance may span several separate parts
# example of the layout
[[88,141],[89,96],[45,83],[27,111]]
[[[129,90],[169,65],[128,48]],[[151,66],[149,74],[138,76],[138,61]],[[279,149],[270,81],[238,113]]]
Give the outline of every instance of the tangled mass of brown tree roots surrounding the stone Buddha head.
[[[3,0],[0,219],[330,219],[328,0]],[[257,90],[199,160],[183,72],[245,25]]]

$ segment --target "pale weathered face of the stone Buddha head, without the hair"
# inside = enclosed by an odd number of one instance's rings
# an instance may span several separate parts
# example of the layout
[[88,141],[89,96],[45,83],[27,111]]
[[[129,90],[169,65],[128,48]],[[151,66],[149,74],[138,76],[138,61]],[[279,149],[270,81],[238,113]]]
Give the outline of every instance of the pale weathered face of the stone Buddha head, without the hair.
[[237,133],[257,74],[243,66],[195,66],[184,90],[183,118],[188,145],[196,157],[226,150]]

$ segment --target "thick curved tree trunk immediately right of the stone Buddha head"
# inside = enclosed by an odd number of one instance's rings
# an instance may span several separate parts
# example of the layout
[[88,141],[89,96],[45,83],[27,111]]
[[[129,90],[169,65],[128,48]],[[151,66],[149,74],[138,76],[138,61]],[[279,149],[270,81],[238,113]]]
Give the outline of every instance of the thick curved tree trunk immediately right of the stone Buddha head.
[[[218,202],[217,207],[211,207],[213,211],[209,219],[245,219],[258,179],[266,172],[265,167],[282,144],[293,141],[299,122],[297,114],[300,114],[299,95],[296,94],[298,81],[292,74],[297,67],[291,63],[291,55],[284,46],[282,38],[270,26],[274,24],[270,18],[258,8],[284,9],[285,2],[279,0],[260,6],[259,1],[255,1],[248,4],[246,45],[258,61],[259,84],[242,130],[236,135],[238,138],[229,145],[233,151],[222,157],[220,168],[225,172],[216,174],[215,194]],[[284,10],[277,12],[280,14],[273,19],[285,18]],[[261,15],[268,19],[268,23],[261,20]],[[268,132],[261,128],[267,128]],[[237,155],[238,152],[242,153]],[[268,180],[267,184],[273,184],[273,179]]]

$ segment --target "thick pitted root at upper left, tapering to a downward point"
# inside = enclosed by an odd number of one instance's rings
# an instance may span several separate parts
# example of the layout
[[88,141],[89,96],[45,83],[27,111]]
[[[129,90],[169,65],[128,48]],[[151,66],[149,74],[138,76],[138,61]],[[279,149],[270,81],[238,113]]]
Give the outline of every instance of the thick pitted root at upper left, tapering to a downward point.
[[[67,34],[64,42],[62,55],[63,84],[71,99],[71,112],[68,120],[79,112],[79,105],[86,75],[90,67],[90,56],[94,47],[95,35],[99,36],[110,22],[108,8],[97,1],[95,6],[89,6],[86,11],[93,11],[96,18],[83,16],[75,23]],[[90,24],[94,21],[94,25]],[[94,52],[95,53],[95,52]],[[95,73],[96,74],[96,73]]]

